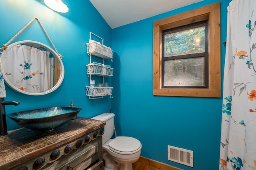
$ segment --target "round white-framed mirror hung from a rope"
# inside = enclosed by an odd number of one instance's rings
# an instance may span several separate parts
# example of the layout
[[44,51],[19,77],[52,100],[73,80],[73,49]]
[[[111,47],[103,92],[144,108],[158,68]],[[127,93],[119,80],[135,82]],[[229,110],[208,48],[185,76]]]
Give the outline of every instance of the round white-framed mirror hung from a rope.
[[64,79],[60,56],[40,42],[25,40],[8,45],[1,62],[6,84],[26,95],[51,93]]

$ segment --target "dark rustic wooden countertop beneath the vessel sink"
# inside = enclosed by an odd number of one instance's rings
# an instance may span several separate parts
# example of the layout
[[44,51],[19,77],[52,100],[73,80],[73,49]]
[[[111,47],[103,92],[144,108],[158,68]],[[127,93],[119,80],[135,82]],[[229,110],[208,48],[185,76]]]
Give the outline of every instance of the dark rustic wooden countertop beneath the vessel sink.
[[0,170],[14,167],[66,142],[106,125],[103,121],[77,117],[52,131],[19,128],[0,136]]

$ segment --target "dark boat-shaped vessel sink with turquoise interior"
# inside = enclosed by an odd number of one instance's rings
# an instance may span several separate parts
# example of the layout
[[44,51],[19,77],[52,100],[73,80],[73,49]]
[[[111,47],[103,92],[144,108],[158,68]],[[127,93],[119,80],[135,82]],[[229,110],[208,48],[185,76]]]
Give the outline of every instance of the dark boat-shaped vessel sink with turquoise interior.
[[75,107],[48,107],[15,112],[7,116],[24,128],[49,131],[73,119],[82,109]]

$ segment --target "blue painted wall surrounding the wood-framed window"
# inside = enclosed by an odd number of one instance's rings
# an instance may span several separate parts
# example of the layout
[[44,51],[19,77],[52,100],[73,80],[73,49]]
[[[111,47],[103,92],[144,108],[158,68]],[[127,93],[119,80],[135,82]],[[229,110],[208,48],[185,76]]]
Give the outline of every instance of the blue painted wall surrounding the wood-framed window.
[[[185,170],[216,170],[219,166],[222,99],[152,95],[153,22],[221,2],[221,43],[226,41],[227,6],[231,0],[204,0],[113,29],[114,98],[118,135],[142,142],[141,155]],[[223,79],[225,47],[221,44]],[[169,161],[167,146],[194,151],[194,168]]]

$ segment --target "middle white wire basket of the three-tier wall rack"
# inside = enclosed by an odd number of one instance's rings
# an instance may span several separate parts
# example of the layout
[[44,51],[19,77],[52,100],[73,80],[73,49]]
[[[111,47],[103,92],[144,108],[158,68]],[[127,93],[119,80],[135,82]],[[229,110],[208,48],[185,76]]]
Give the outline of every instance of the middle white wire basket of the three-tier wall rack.
[[90,75],[113,76],[113,68],[111,67],[106,67],[95,63],[87,64],[86,67],[89,77]]

